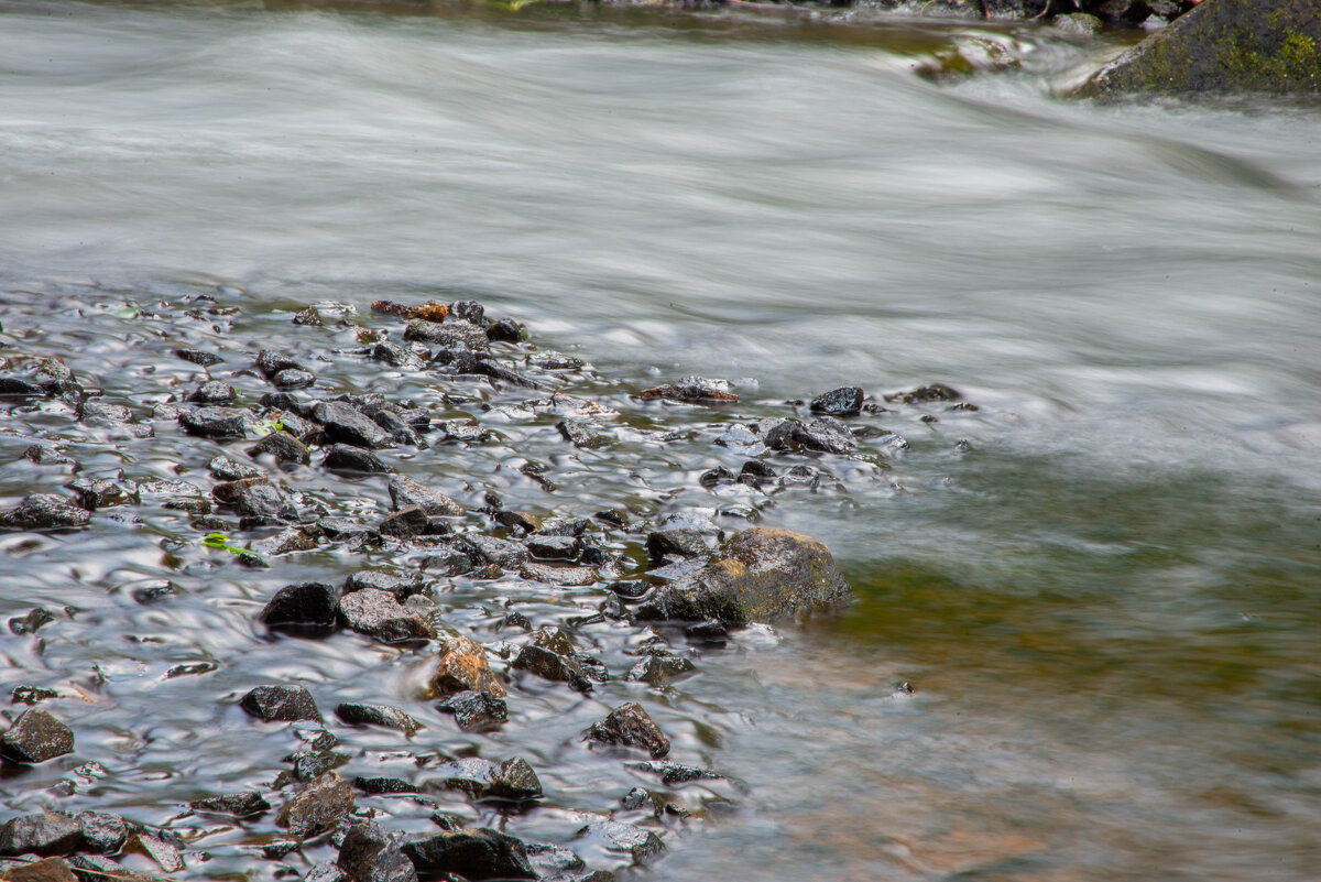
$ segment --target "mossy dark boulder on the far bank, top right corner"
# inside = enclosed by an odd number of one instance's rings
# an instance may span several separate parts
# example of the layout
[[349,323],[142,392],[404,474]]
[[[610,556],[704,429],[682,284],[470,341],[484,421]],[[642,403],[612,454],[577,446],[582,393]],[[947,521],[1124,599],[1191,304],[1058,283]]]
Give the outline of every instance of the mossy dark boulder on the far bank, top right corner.
[[1095,74],[1079,92],[1321,92],[1314,0],[1205,0]]

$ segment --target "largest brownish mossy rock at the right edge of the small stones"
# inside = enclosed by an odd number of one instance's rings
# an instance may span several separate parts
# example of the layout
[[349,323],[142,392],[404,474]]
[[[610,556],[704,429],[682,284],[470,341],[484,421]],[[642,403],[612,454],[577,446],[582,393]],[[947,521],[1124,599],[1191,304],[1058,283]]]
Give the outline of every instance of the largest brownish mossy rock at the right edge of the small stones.
[[658,588],[637,615],[737,626],[804,618],[851,598],[852,589],[822,543],[787,529],[753,527],[727,541],[701,569]]

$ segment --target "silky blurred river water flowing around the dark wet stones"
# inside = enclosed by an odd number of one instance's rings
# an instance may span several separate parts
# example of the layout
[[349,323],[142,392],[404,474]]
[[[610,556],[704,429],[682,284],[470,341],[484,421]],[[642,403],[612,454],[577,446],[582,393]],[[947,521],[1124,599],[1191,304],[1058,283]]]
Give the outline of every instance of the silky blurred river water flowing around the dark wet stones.
[[[761,512],[830,545],[857,592],[844,615],[744,631],[672,692],[524,688],[503,733],[472,738],[546,770],[547,805],[510,829],[565,841],[573,809],[638,783],[577,741],[637,698],[676,759],[740,783],[642,878],[1314,881],[1321,114],[1053,95],[1108,48],[913,17],[0,1],[0,346],[74,351],[149,411],[201,375],[168,345],[225,345],[125,304],[214,297],[251,351],[295,338],[306,304],[473,297],[590,360],[620,409],[684,374],[728,378],[754,416],[947,383],[980,409],[881,415],[909,441],[888,470],[831,466],[841,491]],[[1015,63],[914,74],[956,57]],[[7,504],[67,482],[21,461],[67,425],[0,420]],[[646,440],[572,457],[520,425],[481,474],[444,448],[413,473],[571,514],[727,502]],[[197,478],[210,456],[94,441],[85,469],[137,477]],[[560,489],[502,478],[519,457]],[[86,698],[53,705],[75,757],[7,767],[9,812],[165,823],[218,782],[267,786],[291,739],[232,706],[263,677],[408,701],[424,655],[252,625],[275,588],[353,560],[211,564],[166,514],[5,539],[5,618],[77,607],[0,639],[5,681]],[[135,599],[161,578],[178,595]],[[520,590],[465,582],[444,610],[485,627]],[[180,664],[205,672],[165,676]],[[355,738],[358,771],[411,762],[398,733]],[[190,877],[271,878],[242,827],[188,829],[213,856]]]

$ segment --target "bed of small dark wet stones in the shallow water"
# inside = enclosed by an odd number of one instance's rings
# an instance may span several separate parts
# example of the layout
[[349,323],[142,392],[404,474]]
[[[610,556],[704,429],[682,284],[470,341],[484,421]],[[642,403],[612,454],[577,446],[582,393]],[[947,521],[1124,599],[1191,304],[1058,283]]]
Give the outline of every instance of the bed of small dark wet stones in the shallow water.
[[[157,345],[186,366],[184,374],[147,370],[145,388],[127,400],[95,388],[78,354],[7,346],[13,354],[0,363],[0,403],[11,417],[48,425],[24,448],[24,467],[37,483],[63,487],[30,492],[0,514],[0,535],[13,547],[161,515],[192,535],[166,539],[169,555],[186,547],[198,566],[277,573],[285,561],[330,552],[346,578],[279,588],[254,610],[254,627],[295,654],[308,642],[343,640],[342,652],[367,659],[378,651],[421,659],[427,676],[411,688],[412,702],[336,697],[332,716],[325,702],[333,688],[324,684],[320,705],[306,685],[279,676],[242,695],[213,695],[205,684],[215,664],[172,668],[166,679],[198,681],[197,701],[240,708],[251,728],[242,737],[291,733],[297,749],[287,766],[271,770],[263,790],[193,782],[203,795],[169,824],[140,823],[110,807],[8,817],[0,827],[0,878],[205,874],[199,867],[215,824],[260,841],[250,857],[268,862],[275,878],[318,882],[601,882],[654,861],[672,829],[729,811],[741,794],[719,768],[672,749],[674,733],[653,720],[649,702],[682,689],[683,679],[700,672],[703,654],[721,651],[733,630],[803,621],[851,599],[823,544],[753,522],[797,494],[830,492],[840,475],[884,481],[886,461],[908,442],[880,419],[931,426],[947,413],[976,412],[937,384],[884,397],[859,387],[819,391],[785,403],[779,416],[757,416],[740,411],[729,383],[692,376],[633,387],[622,399],[630,412],[621,412],[618,399],[577,393],[581,386],[590,391],[589,364],[538,350],[519,323],[491,321],[474,301],[373,306],[361,323],[351,308],[326,316],[304,309],[292,317],[291,345],[281,350],[251,350],[229,338],[225,321],[234,308],[205,296],[92,317],[151,320],[165,329],[189,318],[210,325],[217,343],[210,347],[162,334]],[[7,317],[16,342],[28,330],[17,327],[21,321]],[[357,345],[326,346],[328,338],[345,337]],[[337,363],[379,388],[408,376],[435,397],[343,392],[326,378],[325,368]],[[189,379],[177,382],[182,376]],[[474,408],[477,388],[495,391],[499,403]],[[149,413],[141,411],[144,397],[157,401]],[[460,404],[468,409],[460,412]],[[704,430],[667,426],[667,415],[680,412],[709,412],[713,423]],[[559,467],[510,466],[518,481],[547,495],[548,511],[506,506],[466,461],[510,419],[557,438]],[[655,456],[690,459],[694,473],[703,458],[709,465],[704,450],[742,465],[700,470],[696,485],[717,503],[709,510],[575,510],[575,459],[609,458],[621,438],[638,437]],[[209,483],[129,478],[125,469],[85,467],[79,458],[111,450],[132,461],[162,444],[178,445],[182,459],[205,461]],[[954,452],[964,449],[959,442]],[[464,486],[425,477],[441,461],[469,475]],[[351,494],[332,498],[318,486],[324,475],[345,487],[384,482],[390,506],[378,510],[369,496],[362,504]],[[160,540],[144,532],[143,541],[153,548]],[[362,564],[354,566],[354,559]],[[561,613],[535,615],[531,606],[506,601],[472,610],[483,623],[474,628],[453,599],[456,586],[493,584],[514,585],[520,598],[544,599]],[[157,584],[135,599],[168,603],[177,590]],[[36,607],[9,621],[8,639],[41,642],[41,628],[73,615]],[[608,664],[602,648],[622,651],[630,667]],[[564,842],[524,840],[506,833],[502,821],[489,823],[540,807],[538,772],[546,768],[501,737],[527,696],[547,689],[589,696],[620,680],[637,684],[638,700],[608,705],[609,713],[580,733],[577,750],[597,751],[653,783],[622,794],[610,811],[572,813],[577,828]],[[24,768],[77,755],[71,697],[36,680],[13,689],[16,709],[0,738],[11,788],[22,787]],[[427,705],[452,716],[454,734],[478,750],[446,750],[445,733],[417,720]],[[363,728],[398,733],[413,772],[374,774],[345,753],[345,741]],[[433,832],[396,829],[391,800],[404,800],[411,816],[429,812]],[[291,862],[300,856],[310,866]]]

